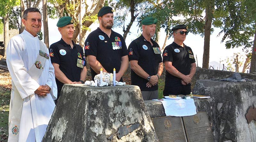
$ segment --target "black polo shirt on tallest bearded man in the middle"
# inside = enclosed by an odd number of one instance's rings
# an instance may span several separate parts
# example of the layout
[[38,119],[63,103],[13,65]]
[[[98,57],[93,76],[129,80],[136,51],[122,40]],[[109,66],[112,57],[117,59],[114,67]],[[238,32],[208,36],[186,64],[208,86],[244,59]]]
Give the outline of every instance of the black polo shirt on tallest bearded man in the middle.
[[[100,28],[91,32],[85,41],[85,56],[93,55],[109,73],[116,73],[121,67],[121,58],[128,55],[127,47],[122,35],[111,30],[110,38]],[[97,73],[90,67],[92,80]],[[123,79],[120,79],[123,82]]]

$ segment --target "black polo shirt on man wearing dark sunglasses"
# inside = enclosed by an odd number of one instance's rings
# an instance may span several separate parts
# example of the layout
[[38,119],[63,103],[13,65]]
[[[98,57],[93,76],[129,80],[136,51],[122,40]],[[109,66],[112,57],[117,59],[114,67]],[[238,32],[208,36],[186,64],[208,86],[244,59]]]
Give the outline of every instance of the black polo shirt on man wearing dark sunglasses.
[[[184,44],[183,48],[175,42],[164,48],[163,62],[165,61],[172,62],[172,66],[184,75],[189,75],[191,64],[196,62],[193,51],[190,47]],[[166,83],[181,80],[180,78],[171,75],[167,70],[165,73]]]

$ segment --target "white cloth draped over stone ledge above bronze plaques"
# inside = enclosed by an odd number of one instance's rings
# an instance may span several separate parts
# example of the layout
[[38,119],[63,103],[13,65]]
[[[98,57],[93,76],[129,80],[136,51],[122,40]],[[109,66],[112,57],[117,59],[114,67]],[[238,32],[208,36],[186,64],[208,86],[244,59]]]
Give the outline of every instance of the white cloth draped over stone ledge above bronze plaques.
[[190,116],[196,114],[194,99],[153,99],[161,101],[164,106],[166,116]]

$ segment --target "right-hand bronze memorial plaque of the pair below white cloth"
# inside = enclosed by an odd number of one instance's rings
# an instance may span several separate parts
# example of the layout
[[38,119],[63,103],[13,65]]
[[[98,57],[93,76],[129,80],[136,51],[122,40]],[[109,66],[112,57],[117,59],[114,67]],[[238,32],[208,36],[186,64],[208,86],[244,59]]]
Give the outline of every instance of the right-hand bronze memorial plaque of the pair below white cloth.
[[212,130],[206,112],[183,117],[188,142],[213,142]]

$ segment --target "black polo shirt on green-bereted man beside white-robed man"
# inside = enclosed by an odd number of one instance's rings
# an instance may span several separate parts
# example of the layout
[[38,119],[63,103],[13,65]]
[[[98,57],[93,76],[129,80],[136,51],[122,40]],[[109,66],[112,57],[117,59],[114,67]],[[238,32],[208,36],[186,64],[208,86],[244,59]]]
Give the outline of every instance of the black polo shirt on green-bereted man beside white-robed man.
[[[86,66],[86,61],[84,57],[83,48],[75,44],[73,41],[73,49],[70,44],[67,44],[61,38],[60,41],[53,43],[50,48],[50,57],[52,63],[60,65],[60,70],[67,76],[72,82],[78,82],[80,80],[80,74],[82,68],[77,67],[77,60],[83,60],[83,66]],[[64,85],[56,78],[56,83],[58,87],[58,97],[62,86]]]

